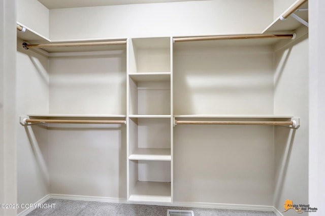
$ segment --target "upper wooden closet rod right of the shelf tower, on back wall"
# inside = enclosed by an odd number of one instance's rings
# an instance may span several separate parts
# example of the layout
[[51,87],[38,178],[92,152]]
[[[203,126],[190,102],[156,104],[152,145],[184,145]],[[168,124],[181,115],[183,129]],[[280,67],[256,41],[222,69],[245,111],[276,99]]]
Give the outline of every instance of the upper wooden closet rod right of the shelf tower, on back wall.
[[243,35],[219,35],[201,37],[178,37],[175,42],[199,41],[199,40],[227,40],[227,39],[258,39],[258,38],[287,38],[293,39],[294,34],[243,34]]

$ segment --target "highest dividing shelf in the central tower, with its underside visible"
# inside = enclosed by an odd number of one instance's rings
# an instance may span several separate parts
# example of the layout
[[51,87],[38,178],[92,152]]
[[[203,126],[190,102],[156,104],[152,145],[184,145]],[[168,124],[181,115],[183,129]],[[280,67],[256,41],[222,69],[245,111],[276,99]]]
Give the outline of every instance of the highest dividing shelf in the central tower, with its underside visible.
[[170,81],[171,72],[152,72],[152,73],[129,73],[134,81],[148,82],[148,81]]

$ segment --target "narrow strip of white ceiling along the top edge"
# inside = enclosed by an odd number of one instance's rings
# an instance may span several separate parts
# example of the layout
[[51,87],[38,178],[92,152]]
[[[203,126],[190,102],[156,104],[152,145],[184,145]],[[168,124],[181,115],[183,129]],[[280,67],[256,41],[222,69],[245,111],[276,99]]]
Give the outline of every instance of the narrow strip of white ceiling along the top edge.
[[48,9],[206,0],[38,0]]

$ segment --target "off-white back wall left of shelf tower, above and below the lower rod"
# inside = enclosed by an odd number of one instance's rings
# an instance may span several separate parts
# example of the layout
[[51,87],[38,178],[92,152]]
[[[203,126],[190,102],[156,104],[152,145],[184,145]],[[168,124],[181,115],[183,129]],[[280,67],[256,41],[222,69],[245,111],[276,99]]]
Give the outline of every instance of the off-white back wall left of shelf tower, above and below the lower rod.
[[[126,115],[126,50],[49,59],[49,112]],[[51,125],[50,193],[126,199],[125,125]]]

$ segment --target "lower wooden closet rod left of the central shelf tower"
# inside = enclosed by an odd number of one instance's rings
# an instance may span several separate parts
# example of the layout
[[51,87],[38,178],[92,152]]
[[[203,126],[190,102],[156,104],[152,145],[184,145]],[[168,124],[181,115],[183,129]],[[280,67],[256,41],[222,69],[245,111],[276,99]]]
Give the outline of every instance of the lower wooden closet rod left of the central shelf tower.
[[24,123],[125,124],[125,120],[24,119]]

